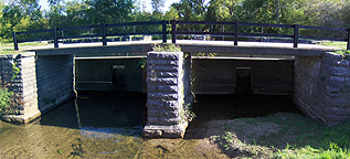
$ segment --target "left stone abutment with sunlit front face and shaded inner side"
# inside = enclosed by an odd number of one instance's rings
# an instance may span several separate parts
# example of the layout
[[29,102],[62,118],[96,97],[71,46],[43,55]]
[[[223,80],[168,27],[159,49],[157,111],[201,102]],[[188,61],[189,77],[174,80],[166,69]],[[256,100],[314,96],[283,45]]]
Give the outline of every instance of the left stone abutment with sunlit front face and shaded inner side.
[[[3,115],[2,120],[29,123],[53,106],[74,95],[73,56],[35,56],[22,53],[0,56],[1,84],[21,98],[17,115]],[[17,74],[13,67],[19,68]],[[13,75],[15,77],[13,78]]]

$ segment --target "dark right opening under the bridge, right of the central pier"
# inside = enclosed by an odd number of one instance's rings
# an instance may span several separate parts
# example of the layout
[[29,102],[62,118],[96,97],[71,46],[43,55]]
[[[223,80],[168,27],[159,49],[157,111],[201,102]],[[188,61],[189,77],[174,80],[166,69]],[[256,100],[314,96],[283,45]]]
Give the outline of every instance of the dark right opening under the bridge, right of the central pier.
[[192,59],[197,117],[189,129],[210,120],[303,114],[293,100],[294,57]]

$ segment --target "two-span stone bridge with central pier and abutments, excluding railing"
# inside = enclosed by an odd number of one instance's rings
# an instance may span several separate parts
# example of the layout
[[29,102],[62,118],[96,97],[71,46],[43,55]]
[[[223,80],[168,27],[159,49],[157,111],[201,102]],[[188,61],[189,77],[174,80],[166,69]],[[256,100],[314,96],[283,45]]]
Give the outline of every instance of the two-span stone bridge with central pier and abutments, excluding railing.
[[183,52],[169,53],[150,52],[153,43],[157,42],[62,44],[60,49],[43,46],[1,56],[1,78],[12,75],[13,66],[21,70],[10,88],[23,99],[20,115],[6,115],[2,119],[28,123],[72,98],[77,86],[75,59],[81,55],[147,56],[145,137],[183,137],[192,92],[233,94],[246,93],[250,87],[255,94],[291,94],[305,114],[328,126],[350,116],[350,59],[329,53],[335,47],[179,40]]

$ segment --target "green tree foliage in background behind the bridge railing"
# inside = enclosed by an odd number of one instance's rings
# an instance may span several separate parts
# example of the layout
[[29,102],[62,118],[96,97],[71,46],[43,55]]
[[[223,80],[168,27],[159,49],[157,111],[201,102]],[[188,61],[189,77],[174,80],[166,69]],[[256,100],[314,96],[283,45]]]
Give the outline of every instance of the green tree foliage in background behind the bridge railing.
[[[12,41],[13,31],[53,29],[134,21],[235,21],[255,23],[305,24],[331,28],[350,28],[349,0],[180,0],[169,11],[161,12],[162,0],[152,0],[153,12],[134,4],[134,0],[49,0],[50,9],[42,11],[38,0],[0,2],[0,41]],[[125,26],[107,32],[160,31],[160,25]],[[179,24],[179,31],[225,31],[233,26]],[[88,31],[100,34],[100,29]],[[240,32],[290,34],[293,29],[241,26]],[[301,29],[303,35],[341,38],[341,33]],[[61,31],[60,35],[79,35],[79,31]],[[19,39],[42,38],[51,33],[25,34]]]

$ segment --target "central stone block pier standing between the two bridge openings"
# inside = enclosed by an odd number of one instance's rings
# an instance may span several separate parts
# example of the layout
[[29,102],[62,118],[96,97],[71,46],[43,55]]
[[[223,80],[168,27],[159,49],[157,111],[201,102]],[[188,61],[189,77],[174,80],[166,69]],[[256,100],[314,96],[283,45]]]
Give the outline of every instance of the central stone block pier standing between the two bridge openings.
[[[144,137],[183,137],[188,121],[183,106],[190,96],[190,57],[182,52],[147,53],[147,125]],[[187,98],[190,100],[190,97]],[[192,98],[193,100],[193,98]]]

